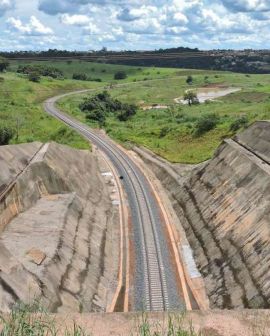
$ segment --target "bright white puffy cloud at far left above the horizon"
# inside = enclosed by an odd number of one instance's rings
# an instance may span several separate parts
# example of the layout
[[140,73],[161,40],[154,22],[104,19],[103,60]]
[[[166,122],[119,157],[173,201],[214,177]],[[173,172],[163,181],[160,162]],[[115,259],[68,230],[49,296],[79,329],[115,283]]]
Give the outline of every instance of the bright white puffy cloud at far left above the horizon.
[[29,23],[23,24],[20,19],[10,17],[7,20],[10,29],[20,32],[24,35],[41,36],[52,35],[51,28],[44,26],[35,16],[31,16]]

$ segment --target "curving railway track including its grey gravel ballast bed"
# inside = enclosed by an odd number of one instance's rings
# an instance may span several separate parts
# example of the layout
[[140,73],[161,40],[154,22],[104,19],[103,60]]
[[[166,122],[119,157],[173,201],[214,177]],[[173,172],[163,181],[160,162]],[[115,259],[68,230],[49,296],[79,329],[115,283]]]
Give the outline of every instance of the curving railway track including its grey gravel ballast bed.
[[[89,91],[89,90],[87,90]],[[80,91],[80,93],[85,92]],[[109,138],[60,112],[55,103],[64,94],[48,99],[44,109],[75,129],[102,150],[123,177],[131,209],[135,241],[134,309],[166,311],[184,308],[177,289],[177,281],[165,239],[161,211],[151,187],[138,166]]]

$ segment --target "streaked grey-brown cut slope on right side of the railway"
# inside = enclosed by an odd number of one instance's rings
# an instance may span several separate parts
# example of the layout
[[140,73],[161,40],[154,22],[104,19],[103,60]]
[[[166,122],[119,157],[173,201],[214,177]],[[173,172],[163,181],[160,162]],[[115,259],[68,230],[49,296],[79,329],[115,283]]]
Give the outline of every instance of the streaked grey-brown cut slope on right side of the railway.
[[211,307],[269,308],[270,123],[224,141],[191,171],[137,152],[170,196]]

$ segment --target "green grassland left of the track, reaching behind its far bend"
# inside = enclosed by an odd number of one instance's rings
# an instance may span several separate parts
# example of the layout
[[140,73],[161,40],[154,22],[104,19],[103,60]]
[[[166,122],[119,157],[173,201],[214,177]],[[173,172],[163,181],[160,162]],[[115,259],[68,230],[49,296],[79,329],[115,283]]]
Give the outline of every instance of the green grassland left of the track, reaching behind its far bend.
[[[108,85],[114,73],[124,69],[128,78],[121,82],[131,82],[135,78],[166,77],[175,73],[175,69],[134,68],[83,61],[61,62],[31,62],[51,65],[64,72],[65,79],[57,80],[42,77],[40,83],[32,83],[24,75],[16,73],[19,64],[29,62],[11,61],[7,73],[0,74],[0,125],[6,125],[14,130],[11,143],[32,141],[56,141],[75,148],[89,148],[89,143],[75,131],[72,131],[60,121],[47,115],[42,108],[42,102],[51,96],[66,91],[86,88],[99,88]],[[71,80],[74,72],[87,73],[99,77],[102,83]],[[157,74],[157,72],[159,72]]]

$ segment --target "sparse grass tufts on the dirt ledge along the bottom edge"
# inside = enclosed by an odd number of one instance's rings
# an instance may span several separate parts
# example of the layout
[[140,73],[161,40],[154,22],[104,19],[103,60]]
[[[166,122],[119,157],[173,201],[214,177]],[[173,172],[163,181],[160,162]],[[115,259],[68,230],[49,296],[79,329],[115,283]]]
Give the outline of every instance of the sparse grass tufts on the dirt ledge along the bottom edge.
[[[254,336],[269,335],[269,314],[249,315],[243,311],[239,321],[248,323],[250,333]],[[215,328],[204,327],[196,331],[192,320],[185,313],[164,314],[157,320],[156,316],[142,313],[130,321],[131,336],[217,336],[219,332]],[[76,317],[77,318],[77,317]],[[75,318],[75,319],[76,319]],[[194,317],[193,317],[194,318]],[[90,336],[88,328],[81,325],[69,316],[49,314],[39,301],[31,304],[18,303],[9,314],[0,314],[0,336]],[[66,321],[66,322],[64,322]],[[84,321],[84,322],[83,322]],[[223,322],[224,323],[224,322]],[[86,323],[88,325],[88,323]],[[226,326],[224,326],[226,328]],[[226,329],[227,330],[227,329]],[[108,330],[109,332],[109,330]],[[94,336],[94,334],[93,334]]]

